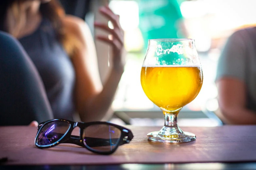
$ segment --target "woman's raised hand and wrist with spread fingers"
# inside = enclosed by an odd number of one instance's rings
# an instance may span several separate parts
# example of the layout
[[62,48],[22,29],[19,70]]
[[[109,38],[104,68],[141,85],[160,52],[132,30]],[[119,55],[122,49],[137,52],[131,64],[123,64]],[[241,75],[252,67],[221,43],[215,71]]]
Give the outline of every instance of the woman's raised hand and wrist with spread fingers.
[[94,22],[96,28],[101,28],[112,36],[109,38],[108,36],[98,35],[97,38],[112,46],[113,68],[118,72],[123,72],[125,66],[124,31],[119,23],[119,15],[115,15],[108,6],[100,7],[99,12],[112,22],[114,29],[109,28],[108,24]]

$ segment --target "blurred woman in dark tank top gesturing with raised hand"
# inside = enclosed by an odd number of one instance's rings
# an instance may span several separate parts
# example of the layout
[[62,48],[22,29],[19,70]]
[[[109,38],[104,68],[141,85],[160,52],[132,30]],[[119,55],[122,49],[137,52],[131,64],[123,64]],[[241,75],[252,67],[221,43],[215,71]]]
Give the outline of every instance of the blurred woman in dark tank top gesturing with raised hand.
[[111,106],[124,71],[123,30],[109,7],[100,13],[114,25],[95,23],[112,35],[97,36],[112,46],[113,67],[102,86],[94,40],[83,20],[65,15],[56,0],[1,2],[0,29],[18,38],[35,64],[44,84],[54,118],[101,120]]

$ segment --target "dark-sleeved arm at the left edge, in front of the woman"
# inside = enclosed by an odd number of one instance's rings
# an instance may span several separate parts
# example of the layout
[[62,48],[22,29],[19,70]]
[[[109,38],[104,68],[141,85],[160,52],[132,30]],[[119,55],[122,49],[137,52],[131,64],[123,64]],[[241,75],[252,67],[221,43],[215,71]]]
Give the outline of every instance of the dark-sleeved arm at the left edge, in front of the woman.
[[3,32],[0,32],[0,92],[0,125],[28,125],[33,120],[53,119],[35,65],[21,44]]

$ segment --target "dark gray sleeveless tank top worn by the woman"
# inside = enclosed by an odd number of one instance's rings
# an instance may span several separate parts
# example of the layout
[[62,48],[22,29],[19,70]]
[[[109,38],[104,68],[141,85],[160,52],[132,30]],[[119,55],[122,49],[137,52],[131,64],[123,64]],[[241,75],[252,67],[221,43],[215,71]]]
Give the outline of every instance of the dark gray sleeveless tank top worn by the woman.
[[75,70],[51,22],[43,18],[34,33],[19,41],[43,80],[54,118],[73,120]]

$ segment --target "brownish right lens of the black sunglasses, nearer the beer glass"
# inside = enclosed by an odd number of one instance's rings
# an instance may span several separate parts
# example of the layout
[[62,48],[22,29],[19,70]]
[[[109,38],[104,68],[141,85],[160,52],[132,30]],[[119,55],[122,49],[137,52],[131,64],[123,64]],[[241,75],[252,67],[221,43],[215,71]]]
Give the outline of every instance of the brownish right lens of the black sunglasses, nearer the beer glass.
[[95,124],[85,128],[84,144],[96,151],[109,152],[117,147],[121,130],[107,124]]

